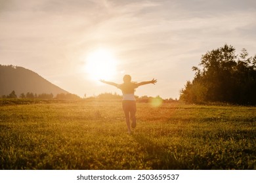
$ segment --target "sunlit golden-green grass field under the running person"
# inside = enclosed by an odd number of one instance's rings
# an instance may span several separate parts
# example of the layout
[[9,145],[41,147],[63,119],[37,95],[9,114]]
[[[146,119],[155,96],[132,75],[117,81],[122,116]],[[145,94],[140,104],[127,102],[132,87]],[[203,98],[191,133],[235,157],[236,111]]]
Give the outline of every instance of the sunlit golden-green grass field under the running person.
[[256,169],[256,108],[0,100],[0,169]]

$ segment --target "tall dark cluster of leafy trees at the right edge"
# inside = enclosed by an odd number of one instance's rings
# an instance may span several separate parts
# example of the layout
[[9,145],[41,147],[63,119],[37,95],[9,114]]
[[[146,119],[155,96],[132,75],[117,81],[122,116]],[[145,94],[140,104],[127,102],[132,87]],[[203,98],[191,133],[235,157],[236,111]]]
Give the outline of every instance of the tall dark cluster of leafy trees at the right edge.
[[200,67],[192,67],[195,76],[181,90],[180,99],[188,103],[221,102],[256,105],[256,55],[245,48],[239,55],[233,46],[207,52]]

